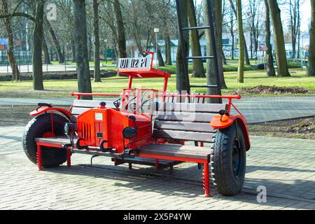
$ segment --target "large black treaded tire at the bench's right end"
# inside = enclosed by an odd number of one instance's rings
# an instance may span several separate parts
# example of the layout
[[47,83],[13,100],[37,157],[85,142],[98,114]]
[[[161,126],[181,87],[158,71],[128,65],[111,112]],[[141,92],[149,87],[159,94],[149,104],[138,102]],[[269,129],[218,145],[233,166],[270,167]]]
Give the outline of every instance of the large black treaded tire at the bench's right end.
[[[237,134],[240,146],[238,146]],[[223,130],[217,130],[212,141],[211,174],[216,183],[216,189],[222,195],[237,195],[243,187],[246,173],[246,146],[240,125],[237,127],[234,123]],[[239,163],[233,163],[235,161],[233,151],[237,151],[235,157],[238,158]]]

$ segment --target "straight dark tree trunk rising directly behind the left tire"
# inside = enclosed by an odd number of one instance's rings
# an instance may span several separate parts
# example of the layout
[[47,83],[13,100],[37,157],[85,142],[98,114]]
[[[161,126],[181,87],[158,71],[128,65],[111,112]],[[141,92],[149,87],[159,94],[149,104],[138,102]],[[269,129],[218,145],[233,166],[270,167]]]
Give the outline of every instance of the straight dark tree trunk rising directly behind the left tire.
[[42,39],[43,39],[43,0],[36,1],[36,16],[33,40],[33,87],[34,90],[43,90],[43,62],[42,55]]

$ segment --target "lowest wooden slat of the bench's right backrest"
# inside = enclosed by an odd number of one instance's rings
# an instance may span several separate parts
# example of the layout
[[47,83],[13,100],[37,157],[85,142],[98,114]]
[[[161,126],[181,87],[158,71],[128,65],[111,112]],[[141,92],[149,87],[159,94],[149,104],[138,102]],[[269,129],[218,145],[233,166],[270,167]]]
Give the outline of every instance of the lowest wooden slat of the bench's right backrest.
[[161,139],[178,139],[188,141],[211,142],[211,133],[202,132],[182,132],[174,130],[154,130],[153,137]]

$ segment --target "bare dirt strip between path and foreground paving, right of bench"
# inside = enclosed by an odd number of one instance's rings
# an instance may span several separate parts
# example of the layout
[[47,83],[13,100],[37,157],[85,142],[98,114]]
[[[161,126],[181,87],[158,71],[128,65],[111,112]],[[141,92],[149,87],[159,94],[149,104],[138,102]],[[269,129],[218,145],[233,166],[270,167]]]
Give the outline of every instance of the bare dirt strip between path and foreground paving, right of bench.
[[315,117],[248,125],[249,134],[315,140]]

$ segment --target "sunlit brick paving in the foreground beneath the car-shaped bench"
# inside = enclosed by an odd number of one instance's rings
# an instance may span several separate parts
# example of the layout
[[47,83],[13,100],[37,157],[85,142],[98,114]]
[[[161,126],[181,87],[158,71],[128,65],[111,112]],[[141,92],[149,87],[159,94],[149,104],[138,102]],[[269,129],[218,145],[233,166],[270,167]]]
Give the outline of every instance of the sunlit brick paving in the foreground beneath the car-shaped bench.
[[[315,141],[251,137],[244,190],[203,197],[195,164],[167,170],[113,167],[109,158],[73,155],[73,167],[38,172],[22,152],[23,127],[0,127],[0,209],[315,209]],[[267,203],[255,190],[266,186]]]

